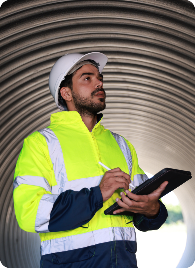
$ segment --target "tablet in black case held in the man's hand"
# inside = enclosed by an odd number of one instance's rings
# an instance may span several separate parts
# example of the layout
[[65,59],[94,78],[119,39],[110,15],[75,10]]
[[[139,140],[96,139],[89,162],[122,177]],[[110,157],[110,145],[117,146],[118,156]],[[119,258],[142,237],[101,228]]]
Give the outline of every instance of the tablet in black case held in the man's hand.
[[[174,189],[185,183],[186,181],[188,181],[190,178],[192,178],[192,176],[189,171],[165,168],[156,173],[152,178],[144,181],[144,183],[140,184],[138,187],[133,189],[132,193],[135,193],[136,195],[148,195],[154,190],[156,190],[161,183],[163,183],[164,181],[168,181],[169,183],[167,184],[165,190],[161,193],[159,197],[161,198],[167,193],[173,191]],[[135,214],[130,211],[123,211],[121,213],[113,214],[115,210],[120,208],[121,207],[118,206],[118,204],[115,202],[112,206],[110,206],[108,209],[104,211],[104,214],[128,215],[128,216]]]

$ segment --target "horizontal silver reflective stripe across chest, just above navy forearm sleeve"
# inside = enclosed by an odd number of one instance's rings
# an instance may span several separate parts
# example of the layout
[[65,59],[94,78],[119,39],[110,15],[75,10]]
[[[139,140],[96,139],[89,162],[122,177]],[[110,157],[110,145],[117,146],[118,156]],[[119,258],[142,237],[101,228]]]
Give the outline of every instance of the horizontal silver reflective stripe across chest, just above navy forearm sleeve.
[[80,191],[83,188],[88,188],[90,190],[91,187],[95,187],[100,184],[100,181],[104,175],[82,178],[78,180],[68,181],[61,185],[52,186],[51,192],[52,194],[59,195],[60,193],[66,190]]

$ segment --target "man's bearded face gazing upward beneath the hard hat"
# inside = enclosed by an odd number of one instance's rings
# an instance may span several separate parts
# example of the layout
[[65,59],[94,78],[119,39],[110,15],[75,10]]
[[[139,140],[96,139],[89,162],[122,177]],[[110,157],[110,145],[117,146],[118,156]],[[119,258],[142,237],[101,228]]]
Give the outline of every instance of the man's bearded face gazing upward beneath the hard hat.
[[72,98],[79,114],[92,116],[105,109],[102,80],[103,76],[91,64],[83,65],[72,77]]

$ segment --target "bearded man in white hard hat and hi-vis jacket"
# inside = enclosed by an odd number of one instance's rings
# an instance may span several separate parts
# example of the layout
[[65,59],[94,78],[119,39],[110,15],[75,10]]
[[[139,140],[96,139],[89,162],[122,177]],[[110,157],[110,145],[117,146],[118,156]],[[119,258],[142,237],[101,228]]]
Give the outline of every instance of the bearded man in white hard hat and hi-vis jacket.
[[[17,161],[16,218],[22,229],[40,234],[43,268],[135,268],[133,224],[154,230],[167,218],[158,199],[168,182],[150,195],[131,193],[130,183],[136,187],[147,179],[135,149],[100,124],[106,62],[104,54],[94,52],[66,54],[55,63],[49,88],[62,112],[24,140]],[[122,208],[106,216],[114,202]],[[123,211],[136,214],[117,215]]]

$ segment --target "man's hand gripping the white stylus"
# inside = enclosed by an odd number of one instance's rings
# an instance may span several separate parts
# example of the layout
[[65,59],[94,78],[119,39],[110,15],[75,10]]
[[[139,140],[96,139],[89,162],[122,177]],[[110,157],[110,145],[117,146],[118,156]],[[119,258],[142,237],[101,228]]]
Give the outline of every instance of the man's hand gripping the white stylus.
[[129,183],[129,174],[123,172],[120,168],[106,171],[99,185],[103,202],[108,200],[118,188],[124,188],[124,191],[128,190]]

